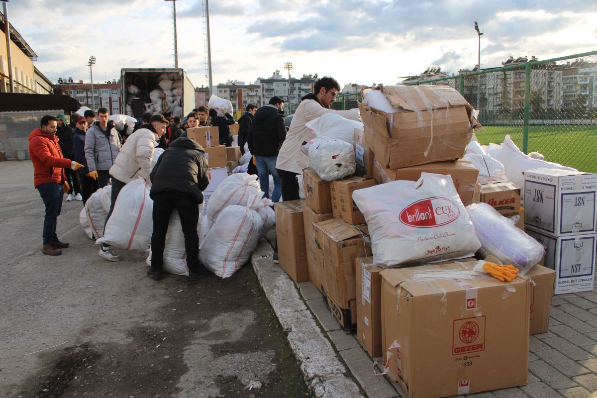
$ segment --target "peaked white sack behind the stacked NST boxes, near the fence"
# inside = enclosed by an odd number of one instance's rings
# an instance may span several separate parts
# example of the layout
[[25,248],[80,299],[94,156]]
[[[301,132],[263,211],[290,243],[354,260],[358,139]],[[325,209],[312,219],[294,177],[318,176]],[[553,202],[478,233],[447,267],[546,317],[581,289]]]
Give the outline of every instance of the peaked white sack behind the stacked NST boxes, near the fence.
[[506,138],[504,138],[504,143],[500,150],[500,159],[498,160],[504,165],[508,181],[512,181],[519,187],[524,187],[524,175],[522,175],[522,173],[528,170],[544,167],[549,169],[577,171],[577,169],[571,167],[533,159],[530,156],[525,155],[524,152],[518,149],[514,141],[510,138],[510,135],[506,135]]

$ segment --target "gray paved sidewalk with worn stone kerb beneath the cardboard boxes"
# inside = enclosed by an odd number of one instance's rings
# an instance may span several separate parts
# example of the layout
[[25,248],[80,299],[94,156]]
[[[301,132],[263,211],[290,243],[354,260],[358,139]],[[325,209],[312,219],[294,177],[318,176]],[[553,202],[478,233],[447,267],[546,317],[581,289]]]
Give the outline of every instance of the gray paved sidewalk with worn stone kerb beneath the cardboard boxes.
[[[251,263],[315,396],[406,398],[397,384],[374,375],[373,359],[340,329],[315,286],[296,285],[272,254],[261,240]],[[597,397],[597,289],[553,297],[549,332],[530,337],[528,369],[527,385],[467,397]]]

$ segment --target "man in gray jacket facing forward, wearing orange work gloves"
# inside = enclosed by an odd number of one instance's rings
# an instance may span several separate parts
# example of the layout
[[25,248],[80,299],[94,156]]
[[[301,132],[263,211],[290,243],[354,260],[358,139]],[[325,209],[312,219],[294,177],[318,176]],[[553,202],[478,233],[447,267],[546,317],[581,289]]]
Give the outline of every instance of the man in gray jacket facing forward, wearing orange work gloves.
[[97,122],[85,133],[85,159],[89,168],[88,176],[97,180],[99,187],[109,183],[110,167],[114,164],[121,143],[114,124],[108,121],[106,108],[97,110]]

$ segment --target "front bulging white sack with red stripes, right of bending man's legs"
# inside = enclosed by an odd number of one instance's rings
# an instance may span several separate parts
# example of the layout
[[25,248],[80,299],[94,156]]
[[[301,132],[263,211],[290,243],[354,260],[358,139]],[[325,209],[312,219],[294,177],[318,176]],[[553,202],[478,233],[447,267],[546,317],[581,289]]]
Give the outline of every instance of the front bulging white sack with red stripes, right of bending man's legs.
[[227,206],[205,236],[199,258],[217,276],[230,277],[250,259],[262,229],[263,220],[253,209]]

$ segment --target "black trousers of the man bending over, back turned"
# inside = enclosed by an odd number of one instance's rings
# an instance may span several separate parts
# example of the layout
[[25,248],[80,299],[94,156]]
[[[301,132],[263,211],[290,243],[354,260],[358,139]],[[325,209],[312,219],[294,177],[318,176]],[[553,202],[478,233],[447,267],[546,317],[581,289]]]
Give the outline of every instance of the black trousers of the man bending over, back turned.
[[151,236],[151,266],[162,269],[164,264],[164,246],[168,223],[173,209],[179,212],[180,224],[184,233],[184,249],[187,255],[189,272],[199,270],[199,203],[189,195],[174,191],[159,192],[153,195],[153,233]]

